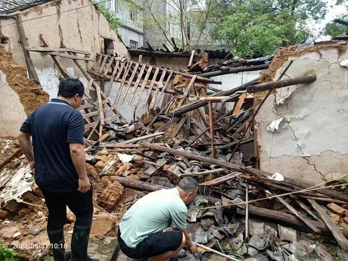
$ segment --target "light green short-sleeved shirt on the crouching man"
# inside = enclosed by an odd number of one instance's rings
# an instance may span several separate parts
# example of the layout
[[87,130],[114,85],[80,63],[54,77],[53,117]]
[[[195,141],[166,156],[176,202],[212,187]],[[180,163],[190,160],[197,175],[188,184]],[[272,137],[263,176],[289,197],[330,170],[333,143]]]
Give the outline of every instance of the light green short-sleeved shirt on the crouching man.
[[120,223],[121,238],[129,248],[151,234],[168,227],[186,228],[187,208],[176,187],[162,189],[139,199],[124,214]]

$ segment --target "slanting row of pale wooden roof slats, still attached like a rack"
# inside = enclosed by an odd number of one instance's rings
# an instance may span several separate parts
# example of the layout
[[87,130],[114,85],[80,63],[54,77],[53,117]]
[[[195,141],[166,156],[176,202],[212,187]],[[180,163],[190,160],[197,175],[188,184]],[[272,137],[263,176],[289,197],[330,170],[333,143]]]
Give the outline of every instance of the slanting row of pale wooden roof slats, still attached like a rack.
[[[130,105],[135,100],[134,102],[137,108],[140,100],[144,97],[144,106],[149,103],[149,109],[155,109],[163,99],[164,93],[183,94],[169,88],[172,78],[178,72],[154,65],[143,64],[141,60],[135,62],[126,58],[100,54],[94,65],[94,71],[90,73],[95,77],[108,81],[108,87],[106,88],[107,96],[111,93],[112,83],[120,83],[113,105],[123,103]],[[190,78],[193,84],[196,77],[190,75]],[[147,89],[147,92],[144,95],[145,89]],[[189,94],[184,96],[187,97],[187,95]],[[151,96],[152,98],[150,98]]]

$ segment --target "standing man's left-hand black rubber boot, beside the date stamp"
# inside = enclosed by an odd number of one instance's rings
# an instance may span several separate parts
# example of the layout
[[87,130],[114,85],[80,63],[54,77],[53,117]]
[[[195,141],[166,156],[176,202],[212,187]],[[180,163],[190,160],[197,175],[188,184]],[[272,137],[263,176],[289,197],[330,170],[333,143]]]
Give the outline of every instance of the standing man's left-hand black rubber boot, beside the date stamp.
[[51,243],[54,261],[68,261],[71,259],[71,253],[65,252],[64,229],[47,231]]

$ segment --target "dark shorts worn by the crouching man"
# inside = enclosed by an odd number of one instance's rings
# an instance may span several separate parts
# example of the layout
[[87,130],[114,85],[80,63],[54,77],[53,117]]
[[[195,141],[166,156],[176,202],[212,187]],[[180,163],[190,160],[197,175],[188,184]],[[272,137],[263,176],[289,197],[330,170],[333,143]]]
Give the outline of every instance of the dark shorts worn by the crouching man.
[[120,229],[117,235],[118,244],[123,254],[132,259],[156,257],[168,251],[178,249],[182,243],[181,231],[166,231],[151,234],[141,241],[135,249],[129,248],[121,238]]

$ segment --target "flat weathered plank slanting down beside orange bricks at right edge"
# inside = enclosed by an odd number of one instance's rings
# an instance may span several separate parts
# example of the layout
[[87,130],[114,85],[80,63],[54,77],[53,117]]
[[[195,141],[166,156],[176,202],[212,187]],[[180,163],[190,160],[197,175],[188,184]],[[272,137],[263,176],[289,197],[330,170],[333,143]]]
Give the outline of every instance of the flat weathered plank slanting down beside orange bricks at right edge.
[[318,212],[320,217],[324,220],[326,226],[330,229],[337,242],[341,246],[344,251],[348,251],[348,240],[342,234],[341,230],[335,224],[335,222],[330,218],[328,214],[326,214],[325,210],[313,199],[308,199],[309,203],[312,207]]

